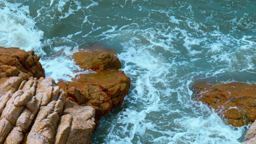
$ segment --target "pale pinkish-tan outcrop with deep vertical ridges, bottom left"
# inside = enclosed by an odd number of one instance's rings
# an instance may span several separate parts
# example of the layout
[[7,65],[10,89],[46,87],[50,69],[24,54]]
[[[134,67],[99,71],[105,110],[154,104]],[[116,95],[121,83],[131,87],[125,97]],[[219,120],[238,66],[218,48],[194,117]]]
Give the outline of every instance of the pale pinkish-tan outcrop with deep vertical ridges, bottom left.
[[89,144],[95,110],[66,97],[52,78],[9,77],[0,86],[0,144]]

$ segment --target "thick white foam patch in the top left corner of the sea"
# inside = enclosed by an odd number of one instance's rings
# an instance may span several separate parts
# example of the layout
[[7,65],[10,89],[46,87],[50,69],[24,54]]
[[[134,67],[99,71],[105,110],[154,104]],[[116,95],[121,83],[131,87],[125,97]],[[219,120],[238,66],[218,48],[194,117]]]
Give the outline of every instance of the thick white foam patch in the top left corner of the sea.
[[36,29],[34,20],[29,16],[28,6],[1,2],[4,6],[0,7],[0,46],[33,49],[37,54],[45,54],[40,48],[43,31]]

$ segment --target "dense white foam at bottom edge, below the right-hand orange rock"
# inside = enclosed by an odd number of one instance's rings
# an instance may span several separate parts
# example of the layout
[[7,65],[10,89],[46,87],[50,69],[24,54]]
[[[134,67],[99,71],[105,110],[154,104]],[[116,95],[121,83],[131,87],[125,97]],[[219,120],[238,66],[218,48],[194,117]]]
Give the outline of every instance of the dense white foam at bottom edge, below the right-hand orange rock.
[[172,141],[168,144],[240,144],[237,139],[241,137],[241,131],[244,131],[243,128],[235,130],[227,126],[216,113],[208,117],[184,117],[178,119],[177,123],[187,131],[168,137],[167,140]]

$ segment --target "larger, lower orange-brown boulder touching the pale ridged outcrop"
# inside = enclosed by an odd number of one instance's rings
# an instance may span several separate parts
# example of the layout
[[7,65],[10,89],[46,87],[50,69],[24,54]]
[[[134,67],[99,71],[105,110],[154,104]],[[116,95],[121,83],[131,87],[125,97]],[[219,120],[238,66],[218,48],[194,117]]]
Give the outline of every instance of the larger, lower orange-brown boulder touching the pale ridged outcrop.
[[120,105],[130,88],[130,79],[123,71],[107,70],[98,73],[79,74],[71,82],[58,82],[65,89],[70,99],[80,105],[92,106],[95,117],[100,119],[104,114]]

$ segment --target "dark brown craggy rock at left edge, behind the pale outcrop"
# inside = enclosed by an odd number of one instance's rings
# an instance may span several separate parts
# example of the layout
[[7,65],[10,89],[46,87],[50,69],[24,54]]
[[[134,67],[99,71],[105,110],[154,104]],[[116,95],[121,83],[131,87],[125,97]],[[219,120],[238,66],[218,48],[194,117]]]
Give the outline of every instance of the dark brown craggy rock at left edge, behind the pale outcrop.
[[35,55],[33,50],[26,52],[19,48],[0,47],[0,79],[13,76],[23,79],[45,77],[39,59],[40,56]]

